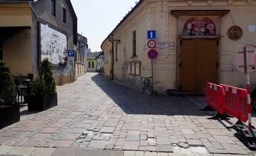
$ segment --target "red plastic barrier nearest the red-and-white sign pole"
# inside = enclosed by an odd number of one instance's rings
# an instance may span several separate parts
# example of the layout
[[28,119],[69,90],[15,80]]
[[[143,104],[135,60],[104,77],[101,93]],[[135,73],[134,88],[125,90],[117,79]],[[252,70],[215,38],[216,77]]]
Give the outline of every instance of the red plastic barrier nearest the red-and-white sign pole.
[[247,122],[250,105],[247,104],[247,90],[220,84],[224,87],[225,99],[224,110],[230,116],[238,118],[239,121]]

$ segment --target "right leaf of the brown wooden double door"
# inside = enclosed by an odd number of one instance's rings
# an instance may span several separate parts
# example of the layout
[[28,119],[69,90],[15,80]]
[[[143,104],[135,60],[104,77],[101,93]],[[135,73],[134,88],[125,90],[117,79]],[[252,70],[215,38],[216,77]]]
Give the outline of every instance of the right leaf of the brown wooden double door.
[[204,91],[206,82],[217,83],[218,40],[199,40],[198,51],[200,60],[198,73],[198,91]]

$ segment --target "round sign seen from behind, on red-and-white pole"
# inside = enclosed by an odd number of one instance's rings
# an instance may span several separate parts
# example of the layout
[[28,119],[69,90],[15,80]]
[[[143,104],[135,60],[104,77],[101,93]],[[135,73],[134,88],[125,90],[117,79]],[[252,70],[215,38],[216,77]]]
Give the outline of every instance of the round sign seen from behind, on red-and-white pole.
[[233,67],[238,72],[249,74],[256,71],[256,46],[241,45],[233,52]]

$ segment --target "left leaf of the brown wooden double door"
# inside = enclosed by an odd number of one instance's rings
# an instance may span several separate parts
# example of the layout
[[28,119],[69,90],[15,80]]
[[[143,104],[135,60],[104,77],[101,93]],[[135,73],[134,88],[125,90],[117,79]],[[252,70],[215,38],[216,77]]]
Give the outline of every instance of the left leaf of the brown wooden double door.
[[198,86],[198,41],[181,41],[181,90],[196,91]]

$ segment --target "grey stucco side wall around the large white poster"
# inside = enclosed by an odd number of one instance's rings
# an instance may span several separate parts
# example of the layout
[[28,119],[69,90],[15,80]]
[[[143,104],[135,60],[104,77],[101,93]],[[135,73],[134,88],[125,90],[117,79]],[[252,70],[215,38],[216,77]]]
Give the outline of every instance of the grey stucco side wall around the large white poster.
[[[67,22],[63,23],[63,7],[67,9]],[[32,5],[33,11],[35,11],[36,15],[43,23],[48,23],[55,30],[60,31],[61,33],[65,32],[68,38],[68,50],[73,49],[73,16],[69,9],[68,4],[65,0],[56,1],[56,16],[52,16],[50,13],[50,1],[41,0],[36,1]],[[34,18],[36,21],[36,18]],[[38,33],[36,29],[36,23],[34,23],[35,28],[35,37]],[[37,44],[38,39],[34,38],[33,44]],[[40,42],[40,41],[39,41]],[[35,48],[36,49],[36,48]],[[36,51],[33,51],[34,55],[36,55]],[[36,67],[35,67],[36,68]],[[65,66],[54,66],[53,73],[55,79],[57,80],[58,85],[66,84],[75,81],[75,67],[74,62],[68,61],[68,64]]]

